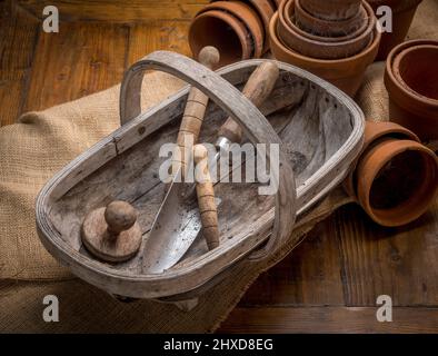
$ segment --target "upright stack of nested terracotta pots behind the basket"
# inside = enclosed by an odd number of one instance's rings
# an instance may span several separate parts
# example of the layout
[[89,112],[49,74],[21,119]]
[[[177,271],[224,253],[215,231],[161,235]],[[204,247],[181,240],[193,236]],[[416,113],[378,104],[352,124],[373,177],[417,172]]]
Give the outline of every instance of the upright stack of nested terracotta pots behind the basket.
[[269,26],[271,50],[354,96],[377,56],[376,22],[361,0],[283,0]]

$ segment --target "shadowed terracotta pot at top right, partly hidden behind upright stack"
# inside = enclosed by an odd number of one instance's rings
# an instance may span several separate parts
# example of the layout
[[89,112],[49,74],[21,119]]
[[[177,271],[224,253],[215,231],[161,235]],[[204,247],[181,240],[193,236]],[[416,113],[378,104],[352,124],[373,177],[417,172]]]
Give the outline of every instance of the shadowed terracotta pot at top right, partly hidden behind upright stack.
[[382,33],[376,60],[385,60],[392,48],[405,40],[421,1],[422,0],[368,0],[375,12],[381,6],[388,6],[392,10],[392,32]]

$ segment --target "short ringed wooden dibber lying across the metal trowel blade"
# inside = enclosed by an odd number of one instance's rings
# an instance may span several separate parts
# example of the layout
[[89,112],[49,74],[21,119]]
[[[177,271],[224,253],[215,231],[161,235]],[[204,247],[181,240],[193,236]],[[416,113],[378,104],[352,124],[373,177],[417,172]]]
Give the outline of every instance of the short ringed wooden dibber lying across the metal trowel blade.
[[218,211],[215,201],[215,189],[208,169],[208,150],[203,145],[193,147],[196,166],[196,192],[198,196],[199,212],[201,215],[202,234],[208,249],[219,246]]

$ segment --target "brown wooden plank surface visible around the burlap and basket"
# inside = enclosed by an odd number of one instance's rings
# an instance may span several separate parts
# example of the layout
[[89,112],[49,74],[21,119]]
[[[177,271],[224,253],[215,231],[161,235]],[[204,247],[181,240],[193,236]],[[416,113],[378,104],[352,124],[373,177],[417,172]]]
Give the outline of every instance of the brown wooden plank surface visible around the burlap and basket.
[[[0,126],[106,89],[152,50],[189,55],[188,20],[202,2],[132,1],[122,9],[60,1],[60,32],[44,33],[44,1],[0,1]],[[384,294],[392,297],[392,323],[376,320]],[[259,277],[220,332],[437,333],[438,201],[396,229],[356,206],[341,208]]]

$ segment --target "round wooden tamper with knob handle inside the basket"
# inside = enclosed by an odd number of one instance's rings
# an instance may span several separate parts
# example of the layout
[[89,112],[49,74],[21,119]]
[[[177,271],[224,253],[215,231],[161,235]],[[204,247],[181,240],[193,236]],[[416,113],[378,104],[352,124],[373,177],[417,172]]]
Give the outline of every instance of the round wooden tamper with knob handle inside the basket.
[[130,259],[141,245],[137,211],[126,201],[92,210],[83,220],[81,235],[87,249],[109,263]]

